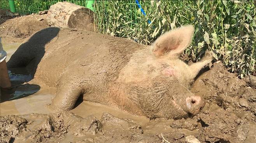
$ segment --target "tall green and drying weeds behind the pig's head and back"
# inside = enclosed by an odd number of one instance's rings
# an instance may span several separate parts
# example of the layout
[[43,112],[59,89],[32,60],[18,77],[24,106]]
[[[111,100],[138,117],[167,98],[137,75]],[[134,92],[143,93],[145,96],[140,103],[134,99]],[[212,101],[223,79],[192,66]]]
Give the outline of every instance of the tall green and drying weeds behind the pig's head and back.
[[165,31],[192,24],[195,34],[183,60],[198,61],[208,49],[238,77],[256,75],[255,1],[141,0],[146,16],[131,2],[95,2],[98,32],[151,44]]

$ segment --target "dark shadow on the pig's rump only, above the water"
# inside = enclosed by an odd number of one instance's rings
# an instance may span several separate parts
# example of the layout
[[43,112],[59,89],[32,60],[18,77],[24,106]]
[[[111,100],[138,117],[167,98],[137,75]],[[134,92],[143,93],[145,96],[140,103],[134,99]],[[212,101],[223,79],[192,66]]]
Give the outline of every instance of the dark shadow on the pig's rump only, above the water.
[[26,70],[34,76],[37,65],[45,54],[45,45],[56,37],[59,31],[58,27],[49,27],[36,32],[19,46],[7,62],[7,68],[26,67]]

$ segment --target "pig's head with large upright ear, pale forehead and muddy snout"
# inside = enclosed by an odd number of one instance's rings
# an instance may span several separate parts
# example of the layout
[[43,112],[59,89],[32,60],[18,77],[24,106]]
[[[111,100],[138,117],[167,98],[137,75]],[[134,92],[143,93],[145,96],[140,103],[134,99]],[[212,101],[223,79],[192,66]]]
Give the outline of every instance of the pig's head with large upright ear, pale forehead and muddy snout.
[[[137,95],[146,116],[182,118],[197,114],[205,102],[188,90],[192,76],[179,59],[193,37],[193,26],[184,26],[160,36],[151,48],[134,54],[121,77]],[[133,96],[135,97],[135,96]]]

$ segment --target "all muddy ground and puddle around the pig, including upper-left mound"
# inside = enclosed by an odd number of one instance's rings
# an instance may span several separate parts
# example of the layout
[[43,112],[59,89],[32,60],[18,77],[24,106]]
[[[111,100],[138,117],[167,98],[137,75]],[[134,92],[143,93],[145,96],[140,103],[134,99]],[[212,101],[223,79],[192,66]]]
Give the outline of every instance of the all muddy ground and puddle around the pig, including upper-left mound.
[[[23,39],[48,27],[45,20],[39,20],[43,16],[16,17],[0,25],[9,57]],[[195,95],[207,101],[198,115],[179,120],[149,120],[81,100],[72,111],[54,113],[47,104],[56,89],[31,80],[23,69],[10,69],[15,86],[1,90],[0,142],[254,142],[255,77],[241,80],[219,61],[205,70],[191,87]]]

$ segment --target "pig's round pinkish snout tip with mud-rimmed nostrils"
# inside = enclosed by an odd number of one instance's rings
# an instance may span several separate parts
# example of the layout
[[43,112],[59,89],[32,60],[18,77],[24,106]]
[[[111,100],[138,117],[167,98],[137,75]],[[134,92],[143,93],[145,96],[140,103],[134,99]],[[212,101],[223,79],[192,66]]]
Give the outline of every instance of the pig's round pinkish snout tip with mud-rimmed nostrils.
[[204,106],[205,102],[200,96],[190,96],[186,98],[186,109],[193,115],[196,115]]

